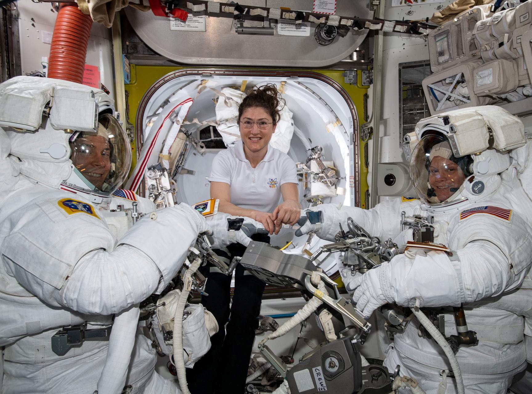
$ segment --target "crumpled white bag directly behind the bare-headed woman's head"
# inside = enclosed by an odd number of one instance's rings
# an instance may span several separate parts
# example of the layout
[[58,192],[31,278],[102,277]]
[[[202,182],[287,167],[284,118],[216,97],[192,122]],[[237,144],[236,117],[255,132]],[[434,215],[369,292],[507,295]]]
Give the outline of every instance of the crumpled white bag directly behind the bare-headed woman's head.
[[[217,129],[226,146],[230,146],[240,140],[240,131],[237,123],[238,106],[242,103],[246,94],[243,91],[232,88],[222,88],[221,93],[222,95],[219,96],[216,104]],[[279,149],[282,153],[288,153],[290,141],[292,141],[292,136],[294,135],[292,112],[286,105],[281,105],[278,109],[280,110],[281,119],[271,137],[270,145]]]

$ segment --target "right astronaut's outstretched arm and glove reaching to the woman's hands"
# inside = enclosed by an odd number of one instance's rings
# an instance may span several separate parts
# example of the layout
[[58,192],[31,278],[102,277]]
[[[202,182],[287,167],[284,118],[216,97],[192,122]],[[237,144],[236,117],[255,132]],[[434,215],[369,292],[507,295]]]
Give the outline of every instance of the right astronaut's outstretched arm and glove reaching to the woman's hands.
[[[405,211],[407,216],[419,213],[420,203],[418,200],[402,203],[400,198],[394,198],[379,203],[371,209],[361,209],[352,206],[338,208],[335,204],[322,204],[309,209],[311,211],[322,211],[323,223],[315,231],[321,239],[334,241],[335,234],[340,230],[339,224],[342,224],[342,228],[347,230],[348,217],[352,217],[371,236],[390,238],[401,231],[401,212]],[[306,223],[301,230],[302,233],[307,233],[313,231],[314,228],[310,223]]]

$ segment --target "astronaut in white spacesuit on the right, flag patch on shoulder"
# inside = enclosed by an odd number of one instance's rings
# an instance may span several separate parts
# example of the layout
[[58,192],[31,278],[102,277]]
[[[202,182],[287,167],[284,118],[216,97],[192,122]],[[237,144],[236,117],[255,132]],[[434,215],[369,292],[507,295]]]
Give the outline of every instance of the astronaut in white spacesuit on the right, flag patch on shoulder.
[[[419,199],[390,199],[372,209],[324,204],[314,231],[334,241],[352,217],[372,236],[404,246],[412,229],[401,232],[406,216],[433,215],[437,244],[452,250],[399,254],[365,274],[344,276],[356,308],[370,316],[386,303],[405,307],[464,306],[477,345],[460,346],[456,358],[466,393],[506,393],[512,377],[525,369],[525,343],[532,335],[528,273],[532,262],[532,203],[512,169],[511,150],[525,144],[522,122],[499,107],[485,106],[440,114],[418,123],[409,135],[411,180]],[[430,223],[430,221],[428,221]],[[414,249],[415,250],[415,249]],[[456,335],[452,308],[445,313],[445,335]],[[418,380],[436,393],[440,372],[450,370],[437,343],[418,332],[413,320],[385,350],[385,365]],[[530,342],[528,342],[530,343]],[[530,349],[528,349],[530,355]],[[444,378],[445,379],[445,378]],[[446,378],[446,393],[456,381]],[[439,391],[438,391],[439,392]]]

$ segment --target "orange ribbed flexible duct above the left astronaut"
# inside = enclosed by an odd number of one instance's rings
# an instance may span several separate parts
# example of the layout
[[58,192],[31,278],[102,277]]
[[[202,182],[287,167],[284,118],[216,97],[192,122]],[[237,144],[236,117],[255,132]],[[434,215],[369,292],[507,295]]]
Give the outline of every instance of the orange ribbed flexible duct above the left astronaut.
[[77,5],[63,5],[57,14],[48,57],[48,78],[82,83],[93,20]]

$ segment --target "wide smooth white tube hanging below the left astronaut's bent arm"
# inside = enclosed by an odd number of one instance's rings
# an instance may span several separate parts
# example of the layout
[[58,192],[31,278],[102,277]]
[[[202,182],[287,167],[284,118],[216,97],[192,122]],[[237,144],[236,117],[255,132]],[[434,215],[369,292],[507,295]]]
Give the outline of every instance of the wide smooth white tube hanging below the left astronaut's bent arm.
[[126,385],[129,361],[135,347],[138,316],[137,304],[114,317],[105,364],[98,379],[98,394],[116,394],[122,392]]

